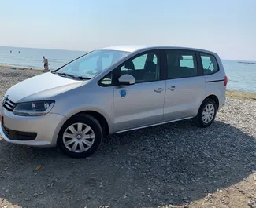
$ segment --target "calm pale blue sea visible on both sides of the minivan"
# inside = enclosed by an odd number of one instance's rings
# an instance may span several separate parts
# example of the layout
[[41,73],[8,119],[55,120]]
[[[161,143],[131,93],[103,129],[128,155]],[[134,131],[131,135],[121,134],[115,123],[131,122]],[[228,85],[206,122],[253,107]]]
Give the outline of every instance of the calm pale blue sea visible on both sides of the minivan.
[[[86,52],[0,46],[0,64],[43,68],[45,56],[49,60],[50,69],[56,69],[84,53]],[[239,63],[241,61],[254,64]],[[222,63],[228,76],[228,89],[256,93],[256,61],[222,60]]]

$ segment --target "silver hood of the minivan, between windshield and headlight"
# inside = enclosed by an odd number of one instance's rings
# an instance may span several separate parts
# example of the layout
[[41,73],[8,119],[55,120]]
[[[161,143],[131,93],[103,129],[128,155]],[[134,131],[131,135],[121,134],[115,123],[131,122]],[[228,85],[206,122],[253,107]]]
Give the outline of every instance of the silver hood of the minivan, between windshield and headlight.
[[14,103],[46,100],[86,82],[88,81],[65,78],[48,72],[17,83],[7,90],[6,96]]

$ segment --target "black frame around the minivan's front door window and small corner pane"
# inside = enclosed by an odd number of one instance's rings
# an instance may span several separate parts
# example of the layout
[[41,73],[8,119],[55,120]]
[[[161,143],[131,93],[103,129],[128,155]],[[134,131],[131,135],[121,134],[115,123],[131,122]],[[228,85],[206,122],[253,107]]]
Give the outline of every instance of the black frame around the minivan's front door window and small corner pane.
[[[105,75],[103,78],[101,78],[98,81],[98,85],[102,86],[102,87],[108,87],[108,86],[120,86],[120,84],[118,83],[118,76],[119,76],[119,72],[121,71],[121,67],[124,66],[124,64],[130,60],[134,60],[137,57],[142,56],[143,54],[147,54],[147,53],[155,53],[158,56],[158,61],[159,61],[159,69],[160,69],[160,75],[159,75],[159,79],[158,80],[154,80],[154,81],[145,81],[145,82],[135,82],[135,85],[137,84],[142,84],[142,83],[147,83],[147,82],[158,82],[161,80],[165,80],[165,60],[163,59],[163,53],[164,53],[164,49],[150,49],[150,50],[145,50],[141,53],[135,54],[135,56],[130,57],[128,60],[124,60],[124,62],[122,62],[121,64],[119,64],[116,68],[114,68],[112,71],[110,71],[107,75]],[[104,85],[102,84],[102,80],[104,78],[106,78],[109,74],[112,74],[112,83],[110,85]]]

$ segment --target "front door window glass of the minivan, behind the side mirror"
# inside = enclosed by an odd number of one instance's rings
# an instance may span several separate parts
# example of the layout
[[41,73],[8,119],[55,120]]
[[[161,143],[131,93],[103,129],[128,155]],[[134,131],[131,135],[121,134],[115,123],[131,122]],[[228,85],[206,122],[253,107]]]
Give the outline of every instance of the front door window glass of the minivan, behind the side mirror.
[[160,79],[158,52],[149,52],[127,60],[121,66],[120,75],[134,76],[136,83],[153,82]]

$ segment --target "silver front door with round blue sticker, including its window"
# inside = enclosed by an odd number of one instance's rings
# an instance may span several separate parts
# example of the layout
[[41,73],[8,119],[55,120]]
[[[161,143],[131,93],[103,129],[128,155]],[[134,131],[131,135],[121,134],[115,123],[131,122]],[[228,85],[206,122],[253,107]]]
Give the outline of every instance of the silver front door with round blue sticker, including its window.
[[115,132],[159,123],[163,119],[165,80],[160,51],[141,53],[126,61],[115,77],[129,74],[135,78],[130,86],[114,86],[113,122]]

